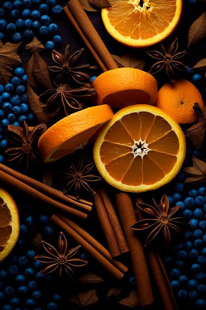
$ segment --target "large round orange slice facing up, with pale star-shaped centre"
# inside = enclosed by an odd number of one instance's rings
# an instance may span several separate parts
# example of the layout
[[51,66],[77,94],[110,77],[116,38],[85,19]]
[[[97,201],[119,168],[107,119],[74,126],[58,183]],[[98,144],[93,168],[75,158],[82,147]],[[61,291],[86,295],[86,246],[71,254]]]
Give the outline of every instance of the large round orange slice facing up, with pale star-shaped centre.
[[123,108],[95,141],[95,164],[103,178],[127,192],[144,192],[168,183],[181,168],[185,137],[161,109],[147,104]]

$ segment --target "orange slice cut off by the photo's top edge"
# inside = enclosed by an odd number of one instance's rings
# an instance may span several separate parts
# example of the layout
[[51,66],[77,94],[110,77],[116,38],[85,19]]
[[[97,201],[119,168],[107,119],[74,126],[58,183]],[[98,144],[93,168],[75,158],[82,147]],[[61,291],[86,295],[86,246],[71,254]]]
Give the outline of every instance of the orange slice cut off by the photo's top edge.
[[183,0],[110,0],[102,9],[105,28],[119,42],[146,47],[168,37],[177,27]]

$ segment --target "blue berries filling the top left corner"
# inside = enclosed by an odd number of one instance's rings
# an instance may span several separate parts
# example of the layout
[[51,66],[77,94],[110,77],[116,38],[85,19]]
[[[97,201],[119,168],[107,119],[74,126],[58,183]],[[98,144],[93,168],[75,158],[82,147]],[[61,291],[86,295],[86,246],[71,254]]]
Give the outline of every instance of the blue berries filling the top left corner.
[[[43,3],[45,2],[45,3]],[[55,44],[61,44],[58,26],[51,23],[48,14],[59,15],[62,7],[56,0],[15,0],[3,1],[0,6],[0,40],[5,35],[14,43],[22,41],[22,37],[31,41],[34,35],[41,35],[46,41],[44,47],[53,50]]]

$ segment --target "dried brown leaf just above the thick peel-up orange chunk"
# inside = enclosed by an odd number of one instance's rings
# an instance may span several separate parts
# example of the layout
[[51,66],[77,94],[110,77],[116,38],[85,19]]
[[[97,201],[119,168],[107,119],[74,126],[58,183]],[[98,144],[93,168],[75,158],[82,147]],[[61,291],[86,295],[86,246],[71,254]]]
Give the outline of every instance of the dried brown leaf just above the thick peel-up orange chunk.
[[132,53],[124,53],[122,57],[112,55],[118,67],[131,67],[142,70],[145,65],[145,59],[137,59]]

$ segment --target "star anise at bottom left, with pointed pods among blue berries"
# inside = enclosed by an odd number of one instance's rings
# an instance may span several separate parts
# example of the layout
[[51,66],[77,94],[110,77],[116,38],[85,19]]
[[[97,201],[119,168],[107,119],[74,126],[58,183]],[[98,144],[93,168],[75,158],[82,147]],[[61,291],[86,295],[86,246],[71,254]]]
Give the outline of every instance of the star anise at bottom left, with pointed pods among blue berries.
[[59,277],[61,277],[62,271],[65,270],[72,278],[74,275],[73,267],[82,267],[87,264],[86,260],[74,257],[81,246],[77,246],[67,252],[67,240],[63,232],[59,233],[57,249],[45,241],[41,241],[41,243],[48,255],[37,255],[35,257],[36,260],[47,264],[46,267],[40,270],[40,274],[51,273],[58,268]]

